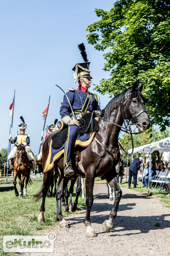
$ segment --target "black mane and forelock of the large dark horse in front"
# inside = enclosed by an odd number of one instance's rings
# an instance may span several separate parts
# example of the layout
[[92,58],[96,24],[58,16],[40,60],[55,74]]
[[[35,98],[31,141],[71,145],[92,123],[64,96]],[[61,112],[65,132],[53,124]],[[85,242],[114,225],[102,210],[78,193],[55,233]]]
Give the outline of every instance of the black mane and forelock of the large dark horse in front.
[[[104,109],[102,109],[102,111],[100,112],[100,116],[109,118],[111,116],[113,108],[118,109],[118,107],[121,105],[121,101],[124,102],[125,95],[126,95],[127,91],[128,91],[128,89],[126,89],[125,91],[123,91],[123,92],[117,94],[115,97],[113,97],[111,99],[111,101],[109,101],[109,103],[106,105],[106,107]],[[139,93],[140,93],[139,90],[135,89],[129,95],[129,99],[137,97]]]

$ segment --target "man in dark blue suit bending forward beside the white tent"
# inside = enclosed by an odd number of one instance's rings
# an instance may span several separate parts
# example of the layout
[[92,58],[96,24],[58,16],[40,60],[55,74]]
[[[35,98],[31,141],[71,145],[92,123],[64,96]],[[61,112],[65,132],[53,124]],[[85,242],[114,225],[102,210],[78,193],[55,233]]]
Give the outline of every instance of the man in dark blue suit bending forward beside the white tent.
[[140,165],[142,162],[142,157],[134,158],[133,162],[129,166],[129,179],[128,179],[128,188],[130,188],[131,178],[133,176],[133,188],[136,188],[137,181],[137,171],[140,169]]

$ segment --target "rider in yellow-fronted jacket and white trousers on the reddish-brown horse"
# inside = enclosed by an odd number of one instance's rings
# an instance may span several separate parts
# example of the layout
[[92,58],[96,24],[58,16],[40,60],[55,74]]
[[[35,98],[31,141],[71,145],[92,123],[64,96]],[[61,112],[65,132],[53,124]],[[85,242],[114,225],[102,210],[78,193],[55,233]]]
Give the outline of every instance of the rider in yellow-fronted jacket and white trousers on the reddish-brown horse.
[[[12,139],[12,134],[10,134],[9,140],[11,140],[11,143],[15,143],[17,145],[23,144],[25,146],[25,151],[27,153],[27,157],[29,159],[29,168],[35,170],[35,158],[34,154],[29,146],[30,144],[30,135],[25,134],[25,129],[27,128],[27,125],[25,124],[24,118],[21,116],[20,119],[22,120],[22,124],[18,125],[18,129],[20,130],[20,134],[16,135],[14,139]],[[14,169],[14,160],[17,153],[17,147],[14,146],[14,148],[9,153],[8,159],[11,160],[11,168],[10,170]]]

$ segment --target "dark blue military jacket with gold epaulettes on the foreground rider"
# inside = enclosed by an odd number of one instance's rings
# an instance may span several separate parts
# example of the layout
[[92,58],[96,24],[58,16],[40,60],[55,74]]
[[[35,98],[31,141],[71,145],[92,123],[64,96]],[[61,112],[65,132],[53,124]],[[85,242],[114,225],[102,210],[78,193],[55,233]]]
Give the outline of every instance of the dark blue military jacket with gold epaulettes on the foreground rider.
[[[87,93],[79,89],[71,89],[71,91],[68,91],[66,94],[67,94],[67,97],[69,98],[73,111],[75,112],[75,114],[77,114],[78,112],[76,112],[76,110],[82,109],[84,102],[87,98]],[[94,94],[91,93],[90,102],[87,107],[87,111],[89,112],[92,112],[94,110],[101,111],[96,98],[97,97],[95,97]],[[68,116],[70,114],[73,115],[71,112],[68,100],[64,95],[63,104],[61,105],[61,108],[60,108],[61,118],[63,118],[64,116]]]

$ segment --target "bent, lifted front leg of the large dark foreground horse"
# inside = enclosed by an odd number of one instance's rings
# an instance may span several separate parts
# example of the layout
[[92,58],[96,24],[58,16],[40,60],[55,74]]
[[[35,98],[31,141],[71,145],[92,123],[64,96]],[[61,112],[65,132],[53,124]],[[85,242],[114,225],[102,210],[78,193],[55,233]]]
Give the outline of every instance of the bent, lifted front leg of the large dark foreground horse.
[[[109,175],[108,175],[109,176]],[[102,224],[103,230],[105,232],[110,232],[111,228],[113,227],[113,221],[117,216],[117,211],[118,211],[118,206],[119,206],[119,202],[121,200],[122,197],[122,190],[119,187],[118,184],[118,179],[117,177],[113,178],[112,180],[110,180],[110,178],[107,176],[107,174],[105,175],[106,180],[108,181],[109,185],[111,186],[111,188],[113,188],[115,190],[115,201],[114,201],[114,205],[113,208],[110,212],[110,217],[109,220],[105,220]]]

